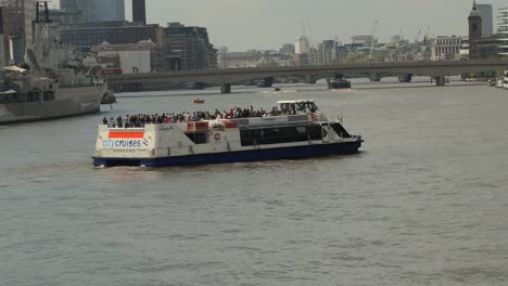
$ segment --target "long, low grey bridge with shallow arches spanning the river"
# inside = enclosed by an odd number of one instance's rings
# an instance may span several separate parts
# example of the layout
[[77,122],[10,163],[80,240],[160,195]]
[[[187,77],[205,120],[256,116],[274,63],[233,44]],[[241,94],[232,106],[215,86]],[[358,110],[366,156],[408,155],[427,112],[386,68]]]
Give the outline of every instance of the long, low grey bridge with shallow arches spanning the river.
[[230,93],[231,84],[253,79],[272,77],[305,77],[315,82],[323,77],[342,74],[346,77],[367,75],[370,79],[388,76],[414,75],[429,76],[435,79],[436,86],[444,86],[445,77],[467,73],[508,69],[508,61],[442,61],[442,62],[401,62],[401,63],[365,63],[352,65],[321,65],[305,67],[275,68],[229,68],[178,70],[151,74],[110,75],[110,84],[167,83],[167,82],[206,82],[220,86],[221,93]]

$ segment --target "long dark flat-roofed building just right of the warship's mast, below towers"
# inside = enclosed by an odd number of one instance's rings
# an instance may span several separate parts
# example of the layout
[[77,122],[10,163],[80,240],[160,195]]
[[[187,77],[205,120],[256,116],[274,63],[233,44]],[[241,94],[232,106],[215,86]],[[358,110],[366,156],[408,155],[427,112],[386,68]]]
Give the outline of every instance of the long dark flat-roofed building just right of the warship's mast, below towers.
[[127,22],[67,24],[62,26],[60,38],[62,42],[86,52],[102,42],[120,44],[137,43],[142,40],[156,41],[157,27],[157,25],[143,26]]

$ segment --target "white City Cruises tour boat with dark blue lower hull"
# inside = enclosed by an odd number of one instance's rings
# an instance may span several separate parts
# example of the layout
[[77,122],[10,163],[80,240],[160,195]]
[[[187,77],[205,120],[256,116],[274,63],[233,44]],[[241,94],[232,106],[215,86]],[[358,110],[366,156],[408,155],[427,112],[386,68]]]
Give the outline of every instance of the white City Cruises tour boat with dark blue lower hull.
[[[328,120],[314,101],[281,101],[280,116],[99,126],[96,167],[168,167],[356,154],[364,140]],[[339,117],[338,117],[339,118]]]

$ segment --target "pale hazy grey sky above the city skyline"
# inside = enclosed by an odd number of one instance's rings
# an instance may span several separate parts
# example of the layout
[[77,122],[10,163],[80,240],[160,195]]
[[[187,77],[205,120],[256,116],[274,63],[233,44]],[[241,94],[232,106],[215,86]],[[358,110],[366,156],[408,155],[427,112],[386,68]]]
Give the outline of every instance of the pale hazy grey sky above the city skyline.
[[[478,0],[493,4],[494,16],[508,0]],[[126,0],[130,20],[130,0]],[[430,27],[430,36],[467,36],[472,0],[147,0],[150,24],[180,22],[206,27],[211,42],[229,51],[279,49],[304,34],[313,43],[354,35],[388,41],[394,35],[415,40]],[[494,20],[496,23],[496,20]]]

